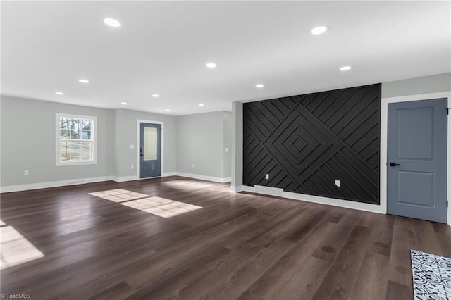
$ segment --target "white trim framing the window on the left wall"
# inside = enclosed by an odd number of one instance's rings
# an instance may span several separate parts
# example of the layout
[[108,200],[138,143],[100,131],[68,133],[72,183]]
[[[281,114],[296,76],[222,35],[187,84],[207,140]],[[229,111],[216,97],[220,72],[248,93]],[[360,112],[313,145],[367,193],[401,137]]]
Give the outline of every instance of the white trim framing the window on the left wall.
[[[76,162],[67,162],[62,163],[60,161],[60,148],[59,148],[59,135],[60,135],[60,128],[59,128],[59,119],[63,118],[74,118],[74,119],[90,119],[93,120],[92,125],[92,161],[76,161]],[[69,165],[95,165],[97,164],[97,117],[94,117],[92,115],[72,115],[69,113],[56,113],[55,117],[55,165],[57,167],[63,167],[63,166],[69,166]]]

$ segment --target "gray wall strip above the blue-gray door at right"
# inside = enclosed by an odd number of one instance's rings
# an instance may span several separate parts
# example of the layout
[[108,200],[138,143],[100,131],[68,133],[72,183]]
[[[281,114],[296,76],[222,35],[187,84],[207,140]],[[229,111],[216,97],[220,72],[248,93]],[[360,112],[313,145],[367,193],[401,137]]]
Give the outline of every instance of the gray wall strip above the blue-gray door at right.
[[451,91],[451,73],[383,82],[382,98]]

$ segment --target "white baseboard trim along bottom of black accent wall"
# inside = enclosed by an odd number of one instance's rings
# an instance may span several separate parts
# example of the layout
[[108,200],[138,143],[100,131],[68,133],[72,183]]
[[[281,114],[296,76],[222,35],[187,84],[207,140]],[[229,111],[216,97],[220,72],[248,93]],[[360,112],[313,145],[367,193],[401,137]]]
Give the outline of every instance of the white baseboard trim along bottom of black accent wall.
[[383,214],[386,213],[386,211],[384,210],[383,207],[376,206],[373,204],[366,204],[366,203],[361,203],[361,202],[356,202],[356,201],[327,198],[327,197],[321,197],[321,196],[313,196],[313,195],[307,195],[307,194],[285,192],[285,191],[283,191],[283,189],[262,187],[262,186],[257,186],[257,185],[255,185],[254,187],[249,187],[247,185],[242,185],[239,187],[230,187],[230,192],[236,192],[236,193],[237,192],[249,192],[249,193],[256,193],[256,194],[265,194],[265,195],[271,195],[271,196],[279,196],[279,197],[285,198],[285,199],[307,201],[307,202],[312,202],[312,203],[316,203],[316,204],[325,204],[325,205],[331,205],[331,206],[339,206],[339,207],[343,207],[343,208],[358,209],[359,211],[369,211],[371,213],[383,213]]

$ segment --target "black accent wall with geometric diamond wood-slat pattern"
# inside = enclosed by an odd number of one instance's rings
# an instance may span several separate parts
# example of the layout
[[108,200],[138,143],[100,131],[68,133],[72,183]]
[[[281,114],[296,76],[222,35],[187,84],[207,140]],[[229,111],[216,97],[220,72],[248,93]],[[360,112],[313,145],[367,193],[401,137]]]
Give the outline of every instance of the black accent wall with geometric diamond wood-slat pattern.
[[380,120],[381,84],[245,103],[243,184],[379,204]]

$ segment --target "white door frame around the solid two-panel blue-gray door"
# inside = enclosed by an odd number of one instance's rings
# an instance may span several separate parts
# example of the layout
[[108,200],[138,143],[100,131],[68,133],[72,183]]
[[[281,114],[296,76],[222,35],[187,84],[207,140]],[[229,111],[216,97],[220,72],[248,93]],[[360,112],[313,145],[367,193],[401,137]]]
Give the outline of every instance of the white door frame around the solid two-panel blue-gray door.
[[[387,213],[387,124],[388,104],[407,101],[447,98],[447,107],[451,107],[451,91],[431,94],[396,96],[381,99],[381,209]],[[447,199],[451,199],[451,122],[447,122]],[[448,205],[447,223],[451,225],[451,205]]]

